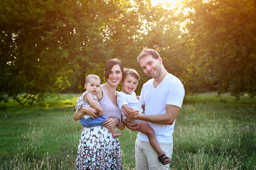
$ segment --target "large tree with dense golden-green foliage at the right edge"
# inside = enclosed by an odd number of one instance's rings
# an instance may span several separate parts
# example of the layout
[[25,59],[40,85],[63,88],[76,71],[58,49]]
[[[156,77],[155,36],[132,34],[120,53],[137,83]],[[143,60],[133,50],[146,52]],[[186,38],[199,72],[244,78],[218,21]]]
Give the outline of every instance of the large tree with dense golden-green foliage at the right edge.
[[183,10],[191,9],[180,18],[193,42],[197,71],[219,95],[230,92],[236,99],[244,92],[256,95],[255,7],[252,0],[183,2]]

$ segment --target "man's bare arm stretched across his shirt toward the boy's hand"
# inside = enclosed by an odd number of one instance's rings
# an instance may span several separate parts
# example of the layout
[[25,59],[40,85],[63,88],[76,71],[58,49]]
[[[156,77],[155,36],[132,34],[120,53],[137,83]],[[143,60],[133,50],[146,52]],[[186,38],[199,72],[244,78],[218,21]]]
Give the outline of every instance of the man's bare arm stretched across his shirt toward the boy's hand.
[[133,115],[129,115],[127,112],[124,112],[124,115],[126,116],[127,119],[131,119],[131,120],[139,119],[139,120],[145,120],[151,123],[157,123],[162,125],[172,125],[179,112],[180,112],[180,107],[166,104],[165,114],[157,114],[157,115],[137,114],[136,118]]

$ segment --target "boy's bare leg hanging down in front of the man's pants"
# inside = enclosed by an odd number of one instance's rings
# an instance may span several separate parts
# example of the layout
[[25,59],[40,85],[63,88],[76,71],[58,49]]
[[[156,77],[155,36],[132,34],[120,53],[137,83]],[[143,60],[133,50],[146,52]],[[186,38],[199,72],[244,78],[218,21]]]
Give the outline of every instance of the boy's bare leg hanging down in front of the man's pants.
[[[156,153],[158,154],[158,156],[160,157],[161,155],[164,154],[164,152],[162,151],[162,149],[159,146],[159,143],[156,140],[156,133],[154,131],[154,129],[152,129],[147,121],[142,121],[140,122],[140,132],[144,133],[145,135],[148,136],[148,140],[150,145],[152,146],[152,148],[156,151]],[[163,156],[163,158],[165,158],[166,156]],[[170,159],[165,159],[164,162],[169,161]]]

